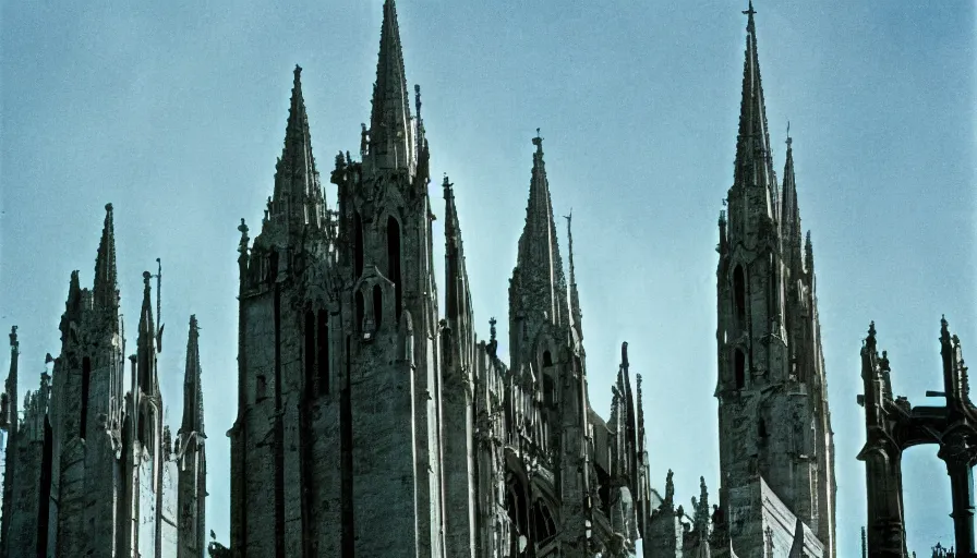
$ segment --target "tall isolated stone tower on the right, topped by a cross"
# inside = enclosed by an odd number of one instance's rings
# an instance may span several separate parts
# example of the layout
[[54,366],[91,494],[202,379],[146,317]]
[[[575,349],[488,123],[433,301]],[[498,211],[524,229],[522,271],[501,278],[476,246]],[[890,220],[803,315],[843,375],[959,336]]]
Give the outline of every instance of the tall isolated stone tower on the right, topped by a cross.
[[752,4],[745,13],[734,182],[717,248],[721,529],[737,554],[762,548],[769,493],[834,556],[834,448],[813,256],[809,235],[801,247],[789,137],[782,190],[773,170]]

